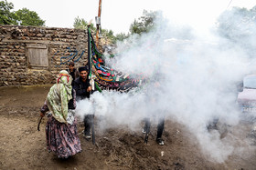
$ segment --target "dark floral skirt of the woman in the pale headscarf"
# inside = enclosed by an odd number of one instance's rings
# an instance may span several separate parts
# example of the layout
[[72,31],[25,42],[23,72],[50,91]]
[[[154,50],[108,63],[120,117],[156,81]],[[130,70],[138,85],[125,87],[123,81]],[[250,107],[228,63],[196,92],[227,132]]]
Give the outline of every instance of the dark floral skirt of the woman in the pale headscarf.
[[59,158],[68,158],[82,151],[76,118],[72,125],[66,125],[57,121],[52,115],[48,115],[46,135],[48,151],[55,152]]

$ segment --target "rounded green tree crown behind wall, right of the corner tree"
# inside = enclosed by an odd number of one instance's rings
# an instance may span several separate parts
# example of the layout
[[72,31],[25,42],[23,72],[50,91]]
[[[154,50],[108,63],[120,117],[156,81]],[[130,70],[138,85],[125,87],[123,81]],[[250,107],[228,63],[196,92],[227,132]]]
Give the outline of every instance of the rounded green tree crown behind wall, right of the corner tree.
[[42,20],[36,12],[29,11],[27,8],[19,9],[15,12],[16,20],[21,21],[21,25],[43,26],[45,21]]

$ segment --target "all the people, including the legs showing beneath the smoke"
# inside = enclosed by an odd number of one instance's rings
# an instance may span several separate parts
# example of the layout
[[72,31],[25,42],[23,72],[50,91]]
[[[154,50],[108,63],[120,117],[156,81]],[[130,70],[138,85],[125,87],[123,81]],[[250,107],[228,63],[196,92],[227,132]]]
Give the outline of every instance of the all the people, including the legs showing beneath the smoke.
[[[69,69],[61,70],[57,77],[57,83],[52,85],[44,105],[40,109],[40,116],[48,112],[46,125],[47,147],[49,152],[54,152],[59,158],[68,158],[82,151],[78,136],[77,118],[75,116],[76,102],[90,95],[96,88],[92,88],[89,80],[89,68],[81,66],[79,70],[74,68],[74,63],[69,63]],[[145,127],[149,122],[146,119]],[[156,141],[164,145],[161,138],[164,130],[164,119],[157,126]],[[83,135],[91,139],[91,125],[93,115],[85,115]]]

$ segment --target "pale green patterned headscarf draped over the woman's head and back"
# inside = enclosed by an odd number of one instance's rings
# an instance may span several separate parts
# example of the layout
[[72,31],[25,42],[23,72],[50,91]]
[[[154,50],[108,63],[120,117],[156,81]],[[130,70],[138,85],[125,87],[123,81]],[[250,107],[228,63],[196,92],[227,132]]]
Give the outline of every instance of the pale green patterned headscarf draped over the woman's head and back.
[[66,70],[59,72],[57,83],[48,92],[48,109],[59,122],[67,124],[69,100],[72,99],[72,76]]

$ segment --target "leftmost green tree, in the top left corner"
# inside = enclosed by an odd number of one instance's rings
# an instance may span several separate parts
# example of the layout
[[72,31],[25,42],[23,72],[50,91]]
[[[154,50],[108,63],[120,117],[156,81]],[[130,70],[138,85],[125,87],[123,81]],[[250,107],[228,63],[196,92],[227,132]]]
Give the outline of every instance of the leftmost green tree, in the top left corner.
[[16,23],[15,14],[11,12],[14,9],[13,3],[0,1],[0,25],[13,25]]

